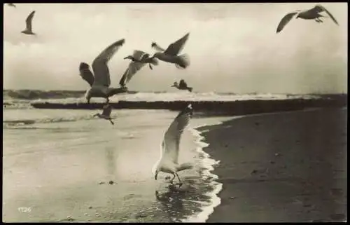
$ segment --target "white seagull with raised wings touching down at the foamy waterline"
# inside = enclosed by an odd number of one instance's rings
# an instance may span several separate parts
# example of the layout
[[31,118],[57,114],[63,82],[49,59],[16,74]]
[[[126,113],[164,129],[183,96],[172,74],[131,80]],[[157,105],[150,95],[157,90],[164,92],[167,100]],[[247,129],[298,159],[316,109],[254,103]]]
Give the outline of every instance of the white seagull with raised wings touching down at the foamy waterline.
[[192,104],[188,104],[186,109],[183,109],[178,116],[170,124],[167,132],[165,132],[164,139],[162,142],[162,151],[159,161],[153,167],[153,174],[157,179],[159,172],[165,172],[174,175],[170,180],[172,184],[175,176],[179,179],[179,186],[182,185],[181,179],[178,172],[181,170],[188,170],[193,168],[192,163],[179,164],[179,145],[183,130],[190,122],[190,118],[193,115]]

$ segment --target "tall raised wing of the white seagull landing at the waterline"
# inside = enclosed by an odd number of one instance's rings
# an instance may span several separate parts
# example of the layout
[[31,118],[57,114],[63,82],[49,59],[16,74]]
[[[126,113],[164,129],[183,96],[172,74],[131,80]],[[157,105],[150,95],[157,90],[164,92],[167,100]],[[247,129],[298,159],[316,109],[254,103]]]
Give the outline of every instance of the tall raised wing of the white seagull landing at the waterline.
[[169,161],[178,163],[180,139],[186,126],[190,122],[193,115],[193,107],[191,104],[183,109],[178,116],[170,124],[167,132],[165,132],[162,142],[162,158],[167,158]]

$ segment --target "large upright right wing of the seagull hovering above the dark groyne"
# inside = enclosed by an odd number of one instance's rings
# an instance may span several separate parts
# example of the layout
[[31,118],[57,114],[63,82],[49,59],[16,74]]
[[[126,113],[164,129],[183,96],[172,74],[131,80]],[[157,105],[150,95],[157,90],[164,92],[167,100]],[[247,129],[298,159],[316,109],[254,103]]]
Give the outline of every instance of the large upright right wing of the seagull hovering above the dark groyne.
[[111,85],[111,76],[109,75],[108,62],[111,57],[123,46],[125,39],[121,39],[108,46],[99,54],[92,62],[92,70],[94,71],[94,85],[106,86]]

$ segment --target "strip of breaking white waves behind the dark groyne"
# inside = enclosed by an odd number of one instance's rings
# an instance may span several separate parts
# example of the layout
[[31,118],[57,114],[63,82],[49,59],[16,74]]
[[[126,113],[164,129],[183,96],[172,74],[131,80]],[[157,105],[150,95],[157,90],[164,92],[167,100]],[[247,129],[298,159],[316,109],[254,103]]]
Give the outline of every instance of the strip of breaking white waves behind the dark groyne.
[[[73,103],[86,102],[84,95],[86,90],[3,90],[3,102],[50,102]],[[271,93],[251,93],[237,95],[235,93],[190,93],[188,91],[167,92],[137,92],[128,91],[110,97],[111,101],[235,101],[235,100],[272,100],[289,98],[316,98],[318,95],[288,95]]]

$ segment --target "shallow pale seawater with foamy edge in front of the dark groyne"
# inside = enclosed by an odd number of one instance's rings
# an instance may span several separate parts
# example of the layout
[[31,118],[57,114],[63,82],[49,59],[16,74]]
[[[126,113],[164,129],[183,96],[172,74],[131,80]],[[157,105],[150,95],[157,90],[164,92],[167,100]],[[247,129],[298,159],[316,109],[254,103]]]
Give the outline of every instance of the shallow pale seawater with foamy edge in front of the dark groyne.
[[[205,221],[220,203],[215,159],[202,151],[200,125],[229,118],[193,118],[183,132],[174,190],[160,172],[164,133],[179,112],[3,109],[3,221]],[[111,182],[111,184],[110,184]],[[175,179],[175,182],[177,180]],[[20,209],[19,209],[20,208]],[[27,210],[23,210],[23,208]]]

